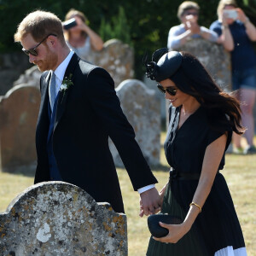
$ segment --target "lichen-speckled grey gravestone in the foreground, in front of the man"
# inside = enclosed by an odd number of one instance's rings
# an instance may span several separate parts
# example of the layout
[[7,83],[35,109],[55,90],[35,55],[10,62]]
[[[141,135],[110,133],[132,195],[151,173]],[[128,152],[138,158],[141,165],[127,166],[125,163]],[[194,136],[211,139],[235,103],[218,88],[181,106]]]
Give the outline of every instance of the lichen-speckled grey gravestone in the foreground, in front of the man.
[[70,183],[38,183],[0,213],[1,255],[126,256],[123,213]]

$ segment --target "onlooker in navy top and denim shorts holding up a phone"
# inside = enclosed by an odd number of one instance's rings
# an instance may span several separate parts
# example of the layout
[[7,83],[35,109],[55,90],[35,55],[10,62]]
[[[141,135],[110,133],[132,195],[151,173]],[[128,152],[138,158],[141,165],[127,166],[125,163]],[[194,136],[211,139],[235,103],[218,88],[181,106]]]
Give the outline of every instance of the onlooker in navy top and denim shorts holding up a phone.
[[256,55],[253,41],[256,28],[235,0],[221,0],[218,3],[218,20],[210,29],[218,33],[219,42],[230,51],[232,66],[232,90],[241,102],[241,121],[247,128],[244,136],[247,148],[241,147],[241,136],[234,134],[233,152],[236,154],[256,154],[253,145],[254,121],[253,105],[256,98]]

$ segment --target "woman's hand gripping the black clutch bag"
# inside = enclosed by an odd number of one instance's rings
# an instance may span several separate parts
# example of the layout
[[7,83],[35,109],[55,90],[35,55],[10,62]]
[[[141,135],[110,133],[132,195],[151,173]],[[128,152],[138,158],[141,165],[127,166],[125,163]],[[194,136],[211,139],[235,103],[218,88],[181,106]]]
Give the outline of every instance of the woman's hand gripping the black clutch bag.
[[169,230],[169,234],[165,237],[153,237],[154,240],[160,241],[160,242],[170,242],[170,243],[177,243],[185,234],[187,234],[190,230],[190,227],[188,227],[187,224],[164,224],[159,223],[161,227],[166,228]]

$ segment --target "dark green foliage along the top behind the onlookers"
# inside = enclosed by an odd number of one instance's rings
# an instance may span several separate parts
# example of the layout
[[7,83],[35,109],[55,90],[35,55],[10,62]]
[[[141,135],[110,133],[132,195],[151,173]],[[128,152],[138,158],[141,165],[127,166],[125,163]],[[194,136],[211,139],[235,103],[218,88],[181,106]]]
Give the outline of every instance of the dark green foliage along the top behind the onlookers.
[[[195,1],[201,7],[199,23],[209,27],[217,20],[218,0]],[[35,9],[44,9],[64,19],[71,8],[84,12],[90,20],[90,27],[105,40],[119,38],[135,50],[135,72],[137,79],[143,75],[143,54],[166,47],[170,28],[180,23],[177,8],[181,0],[0,0],[0,51],[20,50],[14,44],[17,25]],[[256,17],[255,0],[237,0],[250,20]]]

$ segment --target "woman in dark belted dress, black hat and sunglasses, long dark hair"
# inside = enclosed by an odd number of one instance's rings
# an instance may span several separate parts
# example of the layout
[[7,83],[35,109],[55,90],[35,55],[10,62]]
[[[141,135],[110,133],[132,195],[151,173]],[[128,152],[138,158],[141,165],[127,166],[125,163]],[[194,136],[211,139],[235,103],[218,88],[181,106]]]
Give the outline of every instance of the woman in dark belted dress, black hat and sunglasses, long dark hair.
[[170,101],[165,152],[170,180],[161,212],[182,224],[162,224],[169,234],[151,237],[147,256],[244,256],[241,226],[219,172],[232,132],[242,134],[240,103],[214,83],[195,56],[159,49],[147,75]]

